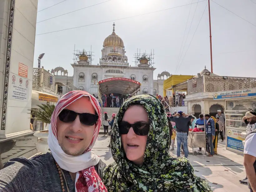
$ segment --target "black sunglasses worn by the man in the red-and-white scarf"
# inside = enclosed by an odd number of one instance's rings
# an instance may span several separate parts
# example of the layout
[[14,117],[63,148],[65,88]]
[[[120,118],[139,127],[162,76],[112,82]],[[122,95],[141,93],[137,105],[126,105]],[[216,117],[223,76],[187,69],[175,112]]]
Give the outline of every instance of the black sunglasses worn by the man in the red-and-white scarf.
[[91,113],[76,113],[68,109],[63,109],[59,114],[59,119],[62,122],[73,122],[76,119],[76,116],[79,115],[80,122],[84,125],[94,125],[98,120],[98,115]]

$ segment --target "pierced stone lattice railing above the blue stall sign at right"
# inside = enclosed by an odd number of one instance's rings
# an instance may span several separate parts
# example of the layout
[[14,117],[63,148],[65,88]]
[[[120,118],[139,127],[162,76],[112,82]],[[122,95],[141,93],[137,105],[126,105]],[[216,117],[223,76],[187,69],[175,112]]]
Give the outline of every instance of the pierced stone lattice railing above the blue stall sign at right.
[[188,81],[188,94],[256,88],[256,78],[203,75]]

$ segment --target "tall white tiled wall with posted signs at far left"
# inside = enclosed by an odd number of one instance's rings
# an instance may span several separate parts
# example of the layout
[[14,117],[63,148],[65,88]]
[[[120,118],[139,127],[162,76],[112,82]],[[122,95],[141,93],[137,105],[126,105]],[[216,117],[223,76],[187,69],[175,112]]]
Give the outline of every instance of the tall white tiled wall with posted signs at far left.
[[[8,5],[9,7],[9,5]],[[34,45],[37,20],[37,0],[20,0],[15,1],[14,21],[12,30],[12,47],[10,72],[18,76],[18,65],[23,63],[28,66],[29,80],[27,97],[28,101],[10,100],[12,94],[10,88],[12,77],[9,77],[8,86],[8,102],[6,115],[5,136],[16,132],[24,132],[30,130],[30,115],[27,114],[31,108],[32,95],[32,75],[34,60]],[[6,49],[6,47],[4,47]],[[10,73],[10,74],[11,74]],[[18,79],[17,79],[18,80]],[[25,84],[25,82],[23,82]]]

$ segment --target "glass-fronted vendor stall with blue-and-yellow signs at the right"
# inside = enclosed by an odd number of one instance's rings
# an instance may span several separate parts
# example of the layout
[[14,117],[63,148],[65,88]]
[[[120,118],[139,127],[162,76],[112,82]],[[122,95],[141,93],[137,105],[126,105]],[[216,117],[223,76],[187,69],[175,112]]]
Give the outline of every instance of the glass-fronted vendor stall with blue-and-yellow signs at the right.
[[246,111],[256,108],[256,88],[217,92],[215,99],[225,101],[226,149],[243,154],[247,125],[242,118]]

